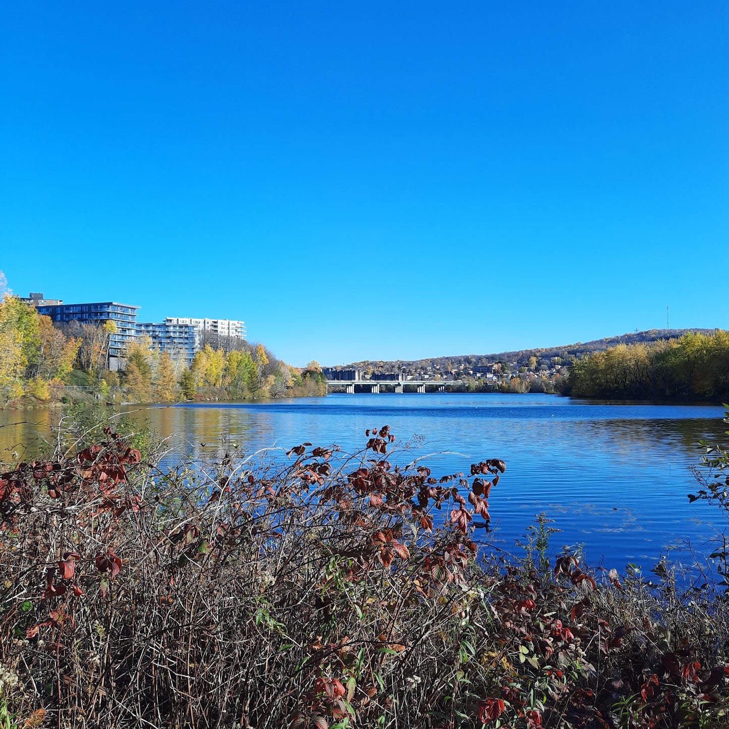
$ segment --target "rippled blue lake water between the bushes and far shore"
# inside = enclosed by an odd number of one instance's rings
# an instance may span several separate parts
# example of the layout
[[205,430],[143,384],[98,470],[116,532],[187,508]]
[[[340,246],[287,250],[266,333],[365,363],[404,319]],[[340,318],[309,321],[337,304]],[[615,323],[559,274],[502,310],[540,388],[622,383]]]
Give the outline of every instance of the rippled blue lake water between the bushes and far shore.
[[[666,548],[689,539],[703,550],[720,525],[706,504],[689,504],[698,440],[725,443],[722,408],[615,405],[550,395],[355,394],[268,402],[127,408],[176,453],[219,457],[233,443],[286,450],[303,441],[361,447],[364,430],[389,424],[398,443],[421,436],[404,453],[423,457],[434,475],[468,471],[501,458],[507,472],[491,492],[492,537],[512,549],[539,512],[561,529],[555,547],[583,543],[590,563],[652,566]],[[0,425],[58,414],[0,412]],[[0,459],[31,443],[44,425],[0,428]],[[200,444],[206,443],[203,448]],[[284,458],[282,451],[273,454]],[[434,454],[434,455],[429,455]],[[424,458],[424,456],[428,456]],[[479,532],[477,532],[478,534]],[[483,532],[480,532],[483,536]]]

